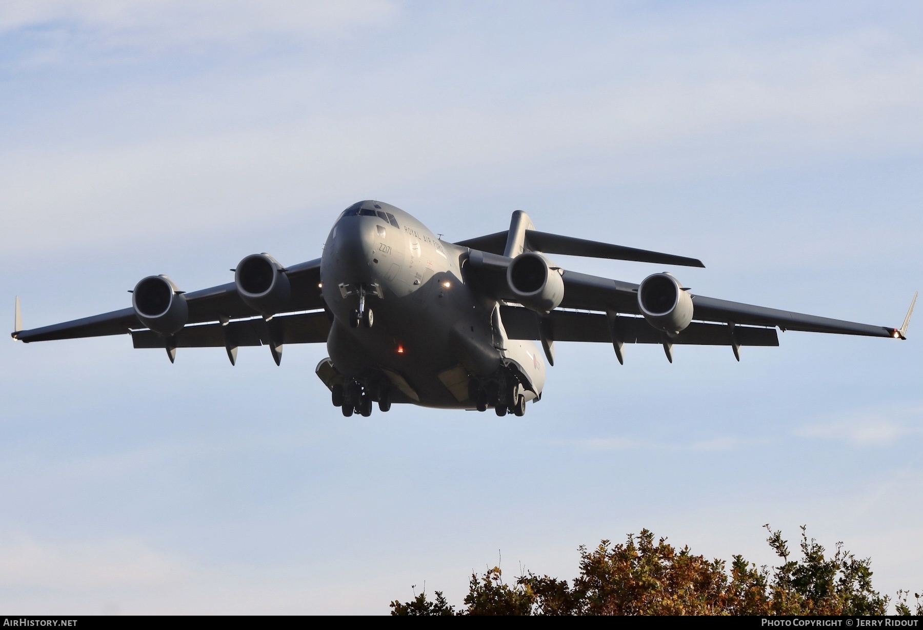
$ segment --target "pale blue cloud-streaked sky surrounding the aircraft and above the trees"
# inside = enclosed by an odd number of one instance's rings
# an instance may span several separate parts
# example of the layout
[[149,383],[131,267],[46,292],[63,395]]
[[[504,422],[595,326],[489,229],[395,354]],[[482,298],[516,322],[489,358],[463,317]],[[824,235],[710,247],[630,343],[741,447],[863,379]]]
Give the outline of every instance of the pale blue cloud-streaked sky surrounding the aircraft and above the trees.
[[[6,2],[0,297],[27,327],[150,273],[319,255],[355,200],[460,240],[539,229],[704,260],[702,295],[899,325],[923,288],[915,3]],[[560,257],[637,282],[640,263]],[[917,319],[920,317],[917,314]],[[923,351],[560,345],[524,418],[345,419],[323,346],[0,344],[7,612],[388,612],[497,563],[569,577],[649,527],[763,523],[923,575]]]

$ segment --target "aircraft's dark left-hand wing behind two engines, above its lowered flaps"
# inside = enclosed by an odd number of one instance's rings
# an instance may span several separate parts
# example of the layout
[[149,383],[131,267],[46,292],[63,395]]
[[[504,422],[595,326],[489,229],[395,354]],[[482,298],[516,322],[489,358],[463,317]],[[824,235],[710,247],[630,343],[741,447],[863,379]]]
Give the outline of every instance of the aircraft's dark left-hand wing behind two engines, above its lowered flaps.
[[[285,274],[292,285],[292,302],[289,311],[323,309],[324,303],[320,297],[318,284],[320,282],[320,260],[309,260],[301,264],[288,267]],[[258,315],[250,309],[237,295],[234,283],[212,286],[200,291],[186,293],[186,303],[189,307],[187,324],[196,324],[206,321],[237,320],[251,318]],[[145,328],[138,321],[135,310],[132,308],[114,310],[102,315],[93,315],[80,320],[65,321],[63,323],[43,326],[31,330],[16,331],[13,338],[30,343],[33,341],[52,341],[56,339],[75,339],[78,337],[96,337],[110,334],[126,334]],[[185,328],[183,329],[186,330]],[[156,335],[157,333],[150,333]],[[326,341],[326,337],[324,339]],[[297,343],[297,342],[293,342]],[[224,345],[223,343],[221,345]],[[161,344],[157,347],[162,347]],[[147,347],[138,346],[136,347]]]

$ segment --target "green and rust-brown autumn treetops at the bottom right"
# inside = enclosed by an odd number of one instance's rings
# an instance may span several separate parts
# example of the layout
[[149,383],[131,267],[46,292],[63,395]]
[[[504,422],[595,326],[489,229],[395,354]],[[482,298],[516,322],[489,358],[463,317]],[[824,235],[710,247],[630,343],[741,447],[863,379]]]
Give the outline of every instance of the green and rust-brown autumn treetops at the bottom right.
[[[857,559],[838,542],[832,554],[801,527],[795,559],[781,530],[769,532],[778,566],[757,566],[735,555],[723,560],[693,555],[665,538],[655,539],[642,529],[625,542],[602,540],[595,548],[581,546],[580,575],[573,580],[536,575],[531,571],[508,584],[498,566],[484,575],[472,574],[464,606],[456,609],[436,591],[414,600],[390,603],[393,615],[881,615],[891,599],[872,588],[871,560]],[[923,615],[920,594],[907,603],[909,591],[900,590],[897,614]]]

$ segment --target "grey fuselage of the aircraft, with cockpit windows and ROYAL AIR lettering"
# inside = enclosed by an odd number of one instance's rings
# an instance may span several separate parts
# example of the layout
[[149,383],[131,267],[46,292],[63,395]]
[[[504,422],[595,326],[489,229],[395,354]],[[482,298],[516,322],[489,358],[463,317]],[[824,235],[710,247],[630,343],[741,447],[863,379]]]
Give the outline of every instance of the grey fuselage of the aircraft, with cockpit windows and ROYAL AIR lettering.
[[[490,382],[514,362],[530,381],[521,388],[526,400],[540,396],[541,350],[506,337],[497,301],[465,282],[467,256],[390,204],[363,201],[342,212],[320,264],[336,369],[358,381],[387,378],[405,402],[473,408],[469,382]],[[370,327],[351,321],[361,299],[374,313]]]

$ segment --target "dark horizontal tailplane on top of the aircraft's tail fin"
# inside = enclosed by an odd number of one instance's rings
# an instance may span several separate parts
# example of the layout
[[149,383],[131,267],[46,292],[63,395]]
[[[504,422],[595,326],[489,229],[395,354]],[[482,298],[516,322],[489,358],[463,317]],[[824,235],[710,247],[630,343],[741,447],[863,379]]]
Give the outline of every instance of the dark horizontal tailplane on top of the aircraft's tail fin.
[[[497,232],[487,236],[477,236],[459,241],[456,245],[463,248],[479,249],[491,254],[503,255],[509,232]],[[664,265],[682,265],[685,267],[704,267],[701,260],[674,256],[647,249],[626,248],[621,245],[600,243],[572,236],[560,236],[536,230],[526,230],[526,250],[540,251],[545,254],[562,254],[564,256],[583,256],[587,258],[607,258],[611,260],[634,260],[636,262],[655,262]]]

